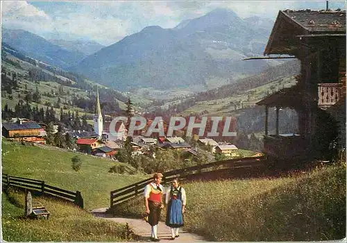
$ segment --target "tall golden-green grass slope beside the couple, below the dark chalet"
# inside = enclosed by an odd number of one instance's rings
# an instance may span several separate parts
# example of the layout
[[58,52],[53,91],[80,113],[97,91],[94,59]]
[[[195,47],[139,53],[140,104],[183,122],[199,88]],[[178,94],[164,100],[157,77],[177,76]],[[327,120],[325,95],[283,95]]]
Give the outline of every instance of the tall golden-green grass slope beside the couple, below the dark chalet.
[[[185,229],[210,241],[315,241],[346,236],[346,166],[276,179],[192,182]],[[142,197],[117,208],[140,217]],[[165,212],[162,212],[164,219]]]

